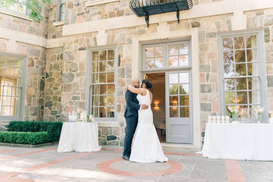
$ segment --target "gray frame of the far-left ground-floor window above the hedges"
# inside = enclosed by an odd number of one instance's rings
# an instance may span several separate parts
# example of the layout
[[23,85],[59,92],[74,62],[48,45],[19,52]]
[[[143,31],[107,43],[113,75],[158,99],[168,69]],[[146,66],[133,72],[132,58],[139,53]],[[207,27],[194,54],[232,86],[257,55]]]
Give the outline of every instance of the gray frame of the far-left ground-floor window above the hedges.
[[0,55],[3,56],[9,56],[9,57],[15,57],[22,59],[22,77],[21,77],[21,87],[22,88],[22,95],[19,99],[19,111],[18,116],[0,116],[0,121],[11,121],[11,120],[24,120],[24,101],[25,101],[25,94],[26,94],[26,71],[27,71],[27,57],[16,55],[16,54],[10,54],[5,52],[0,52]]

